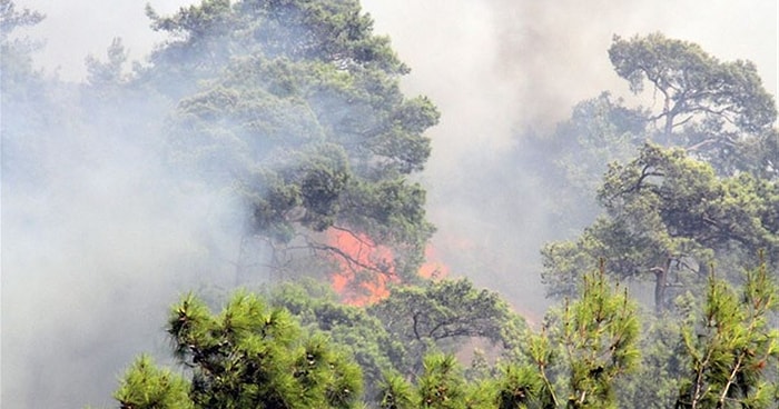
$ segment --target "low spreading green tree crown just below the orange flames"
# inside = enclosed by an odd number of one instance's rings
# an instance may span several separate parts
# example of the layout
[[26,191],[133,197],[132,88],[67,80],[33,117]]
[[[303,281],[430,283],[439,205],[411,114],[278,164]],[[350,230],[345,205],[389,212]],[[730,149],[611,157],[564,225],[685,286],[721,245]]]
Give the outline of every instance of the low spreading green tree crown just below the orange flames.
[[[496,293],[477,290],[467,280],[398,287],[366,309],[341,305],[332,290],[309,280],[284,283],[270,299],[293,312],[304,327],[324,331],[348,351],[363,369],[368,397],[395,385],[379,387],[393,379],[386,373],[422,373],[421,363],[431,348],[456,351],[463,340],[483,338],[500,343],[509,353],[520,349],[525,330],[524,321]],[[490,373],[489,368],[481,372]],[[475,391],[470,396],[479,398]]]

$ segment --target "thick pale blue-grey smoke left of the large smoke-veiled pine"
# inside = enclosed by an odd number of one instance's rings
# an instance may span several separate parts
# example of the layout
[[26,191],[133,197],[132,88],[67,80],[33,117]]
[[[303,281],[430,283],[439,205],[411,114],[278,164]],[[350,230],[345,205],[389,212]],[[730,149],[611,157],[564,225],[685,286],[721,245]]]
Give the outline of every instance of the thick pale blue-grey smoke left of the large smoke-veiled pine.
[[[39,10],[49,27],[71,17]],[[91,21],[89,13],[78,18]],[[106,32],[99,47],[114,34]],[[105,51],[95,54],[105,60]],[[169,101],[128,94],[110,106],[116,99],[101,98],[108,89],[45,77],[27,92],[11,92],[9,81],[2,90],[14,98],[3,96],[2,106],[2,407],[111,407],[117,379],[137,355],[167,356],[167,307],[184,291],[234,285],[239,209],[229,194],[184,184],[164,166]]]

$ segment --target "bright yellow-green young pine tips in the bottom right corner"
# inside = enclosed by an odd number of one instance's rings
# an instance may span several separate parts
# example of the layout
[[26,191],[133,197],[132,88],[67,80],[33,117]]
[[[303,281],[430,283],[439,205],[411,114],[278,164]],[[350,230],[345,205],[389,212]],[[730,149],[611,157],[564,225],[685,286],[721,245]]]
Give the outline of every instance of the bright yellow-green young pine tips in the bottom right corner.
[[724,281],[709,278],[697,325],[682,329],[689,376],[678,408],[769,407],[767,373],[779,363],[779,330],[770,323],[778,295],[765,265],[748,272],[740,297]]

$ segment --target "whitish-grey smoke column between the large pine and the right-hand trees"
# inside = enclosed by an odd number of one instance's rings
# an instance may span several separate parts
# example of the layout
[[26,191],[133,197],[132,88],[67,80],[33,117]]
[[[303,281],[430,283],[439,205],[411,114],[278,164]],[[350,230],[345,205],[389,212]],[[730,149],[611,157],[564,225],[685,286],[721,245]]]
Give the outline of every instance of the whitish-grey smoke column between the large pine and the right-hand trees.
[[[561,239],[548,206],[555,193],[512,162],[526,134],[553,131],[571,108],[604,90],[631,96],[613,72],[614,34],[661,31],[721,60],[748,59],[777,92],[779,6],[769,0],[363,1],[412,67],[408,93],[442,111],[424,173],[434,238],[454,273],[500,290],[531,315],[549,301],[539,249]],[[645,103],[645,102],[644,102]]]

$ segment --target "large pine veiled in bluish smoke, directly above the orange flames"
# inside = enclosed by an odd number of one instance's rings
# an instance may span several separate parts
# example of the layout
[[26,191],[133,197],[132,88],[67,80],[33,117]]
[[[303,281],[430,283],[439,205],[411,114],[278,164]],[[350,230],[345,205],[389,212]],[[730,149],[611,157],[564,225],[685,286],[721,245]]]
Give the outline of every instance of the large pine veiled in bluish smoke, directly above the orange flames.
[[[357,1],[207,0],[148,14],[172,36],[141,76],[178,100],[171,158],[237,187],[273,270],[304,253],[381,280],[415,276],[434,229],[410,176],[438,113],[401,92],[408,69]],[[388,249],[392,267],[353,257],[333,240],[345,232]]]

